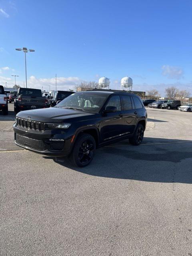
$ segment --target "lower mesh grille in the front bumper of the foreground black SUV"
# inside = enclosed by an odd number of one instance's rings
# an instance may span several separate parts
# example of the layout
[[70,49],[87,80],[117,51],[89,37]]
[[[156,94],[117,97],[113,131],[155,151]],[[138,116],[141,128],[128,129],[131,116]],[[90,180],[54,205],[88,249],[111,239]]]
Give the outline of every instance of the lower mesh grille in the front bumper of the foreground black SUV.
[[46,146],[44,142],[42,142],[42,140],[34,140],[28,137],[21,136],[19,134],[16,134],[15,140],[16,140],[16,143],[34,150],[38,150],[38,151],[46,150]]

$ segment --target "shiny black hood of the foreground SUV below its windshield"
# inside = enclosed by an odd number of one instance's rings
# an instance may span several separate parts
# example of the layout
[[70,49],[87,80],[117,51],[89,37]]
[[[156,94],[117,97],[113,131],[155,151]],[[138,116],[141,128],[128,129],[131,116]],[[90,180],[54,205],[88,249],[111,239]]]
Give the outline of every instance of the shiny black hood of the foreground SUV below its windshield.
[[82,120],[82,117],[87,118],[88,116],[94,115],[95,114],[84,112],[82,110],[53,107],[21,111],[16,116],[38,122],[60,123],[65,120],[70,122],[70,119],[72,118],[78,119],[78,117],[80,117]]

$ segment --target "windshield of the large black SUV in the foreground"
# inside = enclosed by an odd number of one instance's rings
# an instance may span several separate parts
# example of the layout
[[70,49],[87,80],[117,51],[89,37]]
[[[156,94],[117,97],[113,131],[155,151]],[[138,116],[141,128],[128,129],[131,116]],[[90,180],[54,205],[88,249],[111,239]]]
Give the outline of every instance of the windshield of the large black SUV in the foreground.
[[56,105],[58,108],[77,108],[86,112],[98,113],[108,95],[93,92],[76,92]]

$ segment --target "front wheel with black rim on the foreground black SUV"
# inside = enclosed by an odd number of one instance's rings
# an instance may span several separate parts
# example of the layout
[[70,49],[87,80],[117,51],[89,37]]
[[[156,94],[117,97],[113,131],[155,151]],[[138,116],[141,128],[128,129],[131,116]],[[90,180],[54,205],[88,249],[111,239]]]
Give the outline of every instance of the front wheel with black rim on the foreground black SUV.
[[70,154],[70,162],[75,166],[85,167],[93,160],[96,142],[90,134],[82,134],[77,138]]

